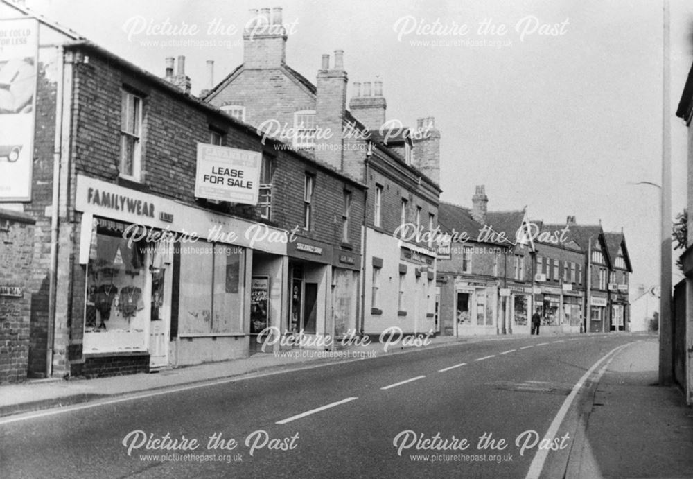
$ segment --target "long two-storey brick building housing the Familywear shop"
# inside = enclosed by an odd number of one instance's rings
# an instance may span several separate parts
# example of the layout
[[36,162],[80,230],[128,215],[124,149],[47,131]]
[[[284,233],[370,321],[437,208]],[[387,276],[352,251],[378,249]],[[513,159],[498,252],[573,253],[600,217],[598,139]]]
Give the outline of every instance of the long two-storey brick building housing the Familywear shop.
[[[365,185],[190,96],[184,58],[159,78],[0,6],[46,44],[30,194],[4,203],[36,223],[30,374],[226,360],[251,354],[267,326],[356,327]],[[196,195],[200,150],[259,170],[258,205]]]

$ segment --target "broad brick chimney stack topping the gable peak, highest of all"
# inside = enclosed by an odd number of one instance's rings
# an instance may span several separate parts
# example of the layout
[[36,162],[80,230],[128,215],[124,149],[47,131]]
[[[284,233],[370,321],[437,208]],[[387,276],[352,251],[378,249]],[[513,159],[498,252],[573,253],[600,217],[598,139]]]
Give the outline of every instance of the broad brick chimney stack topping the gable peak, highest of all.
[[243,64],[251,69],[277,69],[286,62],[286,28],[281,8],[250,10],[243,31]]

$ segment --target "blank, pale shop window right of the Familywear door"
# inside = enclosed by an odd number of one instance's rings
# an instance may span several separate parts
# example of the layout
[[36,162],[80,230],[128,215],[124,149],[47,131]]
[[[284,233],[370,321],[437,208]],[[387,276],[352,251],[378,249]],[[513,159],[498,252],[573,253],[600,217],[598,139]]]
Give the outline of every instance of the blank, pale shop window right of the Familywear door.
[[242,333],[245,250],[196,241],[179,254],[179,334]]

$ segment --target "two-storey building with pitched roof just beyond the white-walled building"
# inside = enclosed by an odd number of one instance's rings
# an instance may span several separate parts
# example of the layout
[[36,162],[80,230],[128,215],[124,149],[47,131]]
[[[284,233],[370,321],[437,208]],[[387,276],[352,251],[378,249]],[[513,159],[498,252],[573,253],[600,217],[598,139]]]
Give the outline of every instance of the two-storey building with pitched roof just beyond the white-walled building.
[[477,186],[471,209],[440,205],[444,240],[439,248],[441,334],[529,333],[533,245],[518,241],[526,212],[488,211],[485,187]]

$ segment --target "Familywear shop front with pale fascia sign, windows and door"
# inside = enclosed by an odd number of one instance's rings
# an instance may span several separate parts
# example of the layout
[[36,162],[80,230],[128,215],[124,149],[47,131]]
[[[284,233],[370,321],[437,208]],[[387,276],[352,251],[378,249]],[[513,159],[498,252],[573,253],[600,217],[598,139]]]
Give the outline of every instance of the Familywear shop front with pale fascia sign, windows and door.
[[254,223],[81,175],[76,195],[86,280],[82,354],[71,363],[106,375],[121,374],[113,358],[138,372],[249,354],[254,252],[277,259],[276,277],[286,242],[248,234]]

